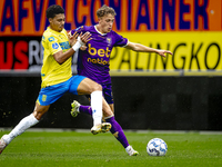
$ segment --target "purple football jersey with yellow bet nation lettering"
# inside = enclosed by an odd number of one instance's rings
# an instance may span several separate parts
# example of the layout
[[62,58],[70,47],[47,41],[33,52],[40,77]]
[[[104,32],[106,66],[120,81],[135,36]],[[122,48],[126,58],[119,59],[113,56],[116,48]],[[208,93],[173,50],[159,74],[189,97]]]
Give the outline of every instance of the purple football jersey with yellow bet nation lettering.
[[92,40],[87,43],[85,50],[78,52],[78,75],[85,76],[98,84],[111,84],[110,78],[110,55],[113,47],[123,47],[128,43],[128,39],[114,31],[109,33],[100,33],[94,26],[82,26],[71,33],[89,31]]

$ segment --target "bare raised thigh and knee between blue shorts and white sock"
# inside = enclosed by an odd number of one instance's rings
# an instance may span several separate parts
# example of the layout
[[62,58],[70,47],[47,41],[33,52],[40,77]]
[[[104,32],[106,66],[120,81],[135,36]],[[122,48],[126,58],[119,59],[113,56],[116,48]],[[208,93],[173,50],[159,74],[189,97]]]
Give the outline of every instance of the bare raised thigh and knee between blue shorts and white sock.
[[101,91],[102,87],[89,78],[84,78],[77,88],[78,95],[90,95],[97,90]]

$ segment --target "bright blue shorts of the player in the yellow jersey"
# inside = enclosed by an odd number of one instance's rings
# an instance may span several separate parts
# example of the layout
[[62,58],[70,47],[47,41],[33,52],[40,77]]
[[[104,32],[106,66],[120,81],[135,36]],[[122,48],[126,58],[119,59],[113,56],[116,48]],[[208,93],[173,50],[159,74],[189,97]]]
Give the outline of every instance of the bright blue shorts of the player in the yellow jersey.
[[71,94],[78,95],[77,89],[80,82],[87,77],[84,76],[72,76],[69,80],[42,88],[39,92],[37,101],[41,106],[48,106],[57,101],[64,92],[69,91]]

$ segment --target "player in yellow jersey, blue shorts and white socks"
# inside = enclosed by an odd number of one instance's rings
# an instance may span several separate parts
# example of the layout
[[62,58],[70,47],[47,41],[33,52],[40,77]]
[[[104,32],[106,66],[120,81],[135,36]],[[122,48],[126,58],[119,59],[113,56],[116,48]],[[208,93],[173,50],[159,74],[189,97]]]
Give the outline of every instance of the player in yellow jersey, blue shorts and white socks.
[[[19,135],[31,126],[39,122],[41,117],[49,110],[51,104],[57,101],[64,92],[74,95],[91,95],[91,107],[93,110],[93,127],[91,132],[109,131],[111,124],[102,122],[102,87],[83,76],[72,76],[72,55],[79,48],[91,40],[91,33],[75,33],[68,37],[64,30],[64,10],[62,7],[53,4],[47,9],[47,18],[50,26],[43,32],[43,65],[41,69],[41,90],[37,98],[34,110],[24,117],[8,135],[0,139],[0,154]],[[107,111],[107,115],[112,112]]]

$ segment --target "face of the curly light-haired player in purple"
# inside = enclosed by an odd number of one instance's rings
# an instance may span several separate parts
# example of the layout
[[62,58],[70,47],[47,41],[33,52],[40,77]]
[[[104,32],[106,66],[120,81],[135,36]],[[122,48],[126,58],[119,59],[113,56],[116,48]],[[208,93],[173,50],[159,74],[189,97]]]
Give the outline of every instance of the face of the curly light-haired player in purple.
[[102,33],[110,32],[112,30],[113,22],[114,22],[114,16],[110,13],[102,18],[99,18],[100,31]]

